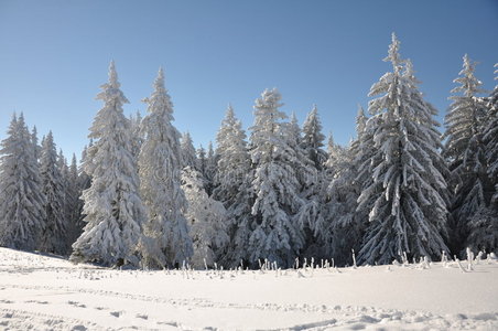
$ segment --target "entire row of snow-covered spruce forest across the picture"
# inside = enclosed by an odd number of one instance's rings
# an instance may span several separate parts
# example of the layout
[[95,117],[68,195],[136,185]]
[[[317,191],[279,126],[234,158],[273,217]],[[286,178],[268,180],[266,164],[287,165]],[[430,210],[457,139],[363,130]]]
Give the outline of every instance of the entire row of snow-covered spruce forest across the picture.
[[371,86],[348,146],[326,141],[316,106],[300,126],[266,89],[248,134],[228,106],[207,150],[172,124],[162,70],[147,115],[127,118],[111,63],[79,164],[52,132],[39,142],[12,116],[0,150],[0,246],[144,268],[498,253],[498,86],[485,94],[465,55],[442,134],[394,34],[383,61],[392,70]]

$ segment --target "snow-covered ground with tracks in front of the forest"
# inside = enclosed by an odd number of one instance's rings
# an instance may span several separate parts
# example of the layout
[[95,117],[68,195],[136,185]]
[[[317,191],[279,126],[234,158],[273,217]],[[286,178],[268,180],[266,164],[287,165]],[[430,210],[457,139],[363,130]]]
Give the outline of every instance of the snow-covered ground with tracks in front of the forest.
[[138,271],[0,248],[0,330],[28,329],[498,330],[498,263]]

